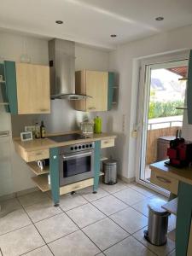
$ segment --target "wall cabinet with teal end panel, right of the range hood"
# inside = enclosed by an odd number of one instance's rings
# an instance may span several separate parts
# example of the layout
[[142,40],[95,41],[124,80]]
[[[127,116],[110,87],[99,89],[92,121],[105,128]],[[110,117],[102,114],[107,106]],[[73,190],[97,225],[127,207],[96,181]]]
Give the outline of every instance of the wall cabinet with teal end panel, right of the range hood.
[[113,102],[114,73],[83,70],[75,73],[77,94],[91,96],[76,101],[75,109],[80,111],[108,111]]

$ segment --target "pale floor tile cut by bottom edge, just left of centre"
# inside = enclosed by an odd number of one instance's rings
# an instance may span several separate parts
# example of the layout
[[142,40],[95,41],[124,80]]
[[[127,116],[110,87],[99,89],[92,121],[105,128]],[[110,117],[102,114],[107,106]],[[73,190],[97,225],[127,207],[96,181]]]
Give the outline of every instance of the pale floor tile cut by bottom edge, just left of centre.
[[49,248],[55,256],[93,256],[100,252],[80,230],[49,243]]

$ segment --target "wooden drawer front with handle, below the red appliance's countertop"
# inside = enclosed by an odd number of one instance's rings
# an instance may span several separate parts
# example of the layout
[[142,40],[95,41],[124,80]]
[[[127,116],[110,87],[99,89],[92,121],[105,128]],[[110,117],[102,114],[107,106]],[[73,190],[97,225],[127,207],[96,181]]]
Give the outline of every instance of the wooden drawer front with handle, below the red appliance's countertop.
[[150,182],[177,195],[178,180],[160,171],[151,171]]

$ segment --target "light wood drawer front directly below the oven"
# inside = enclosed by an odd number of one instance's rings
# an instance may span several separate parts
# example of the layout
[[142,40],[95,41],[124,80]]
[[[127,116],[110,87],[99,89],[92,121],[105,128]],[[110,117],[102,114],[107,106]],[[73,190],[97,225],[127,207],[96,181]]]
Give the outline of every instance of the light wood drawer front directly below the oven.
[[93,178],[89,178],[89,179],[80,181],[78,183],[68,184],[68,185],[60,188],[60,195],[67,194],[67,193],[70,193],[72,191],[76,191],[79,189],[84,189],[86,187],[90,187],[93,185],[93,183],[94,183]]

